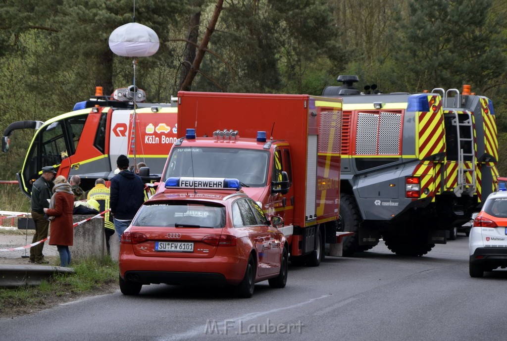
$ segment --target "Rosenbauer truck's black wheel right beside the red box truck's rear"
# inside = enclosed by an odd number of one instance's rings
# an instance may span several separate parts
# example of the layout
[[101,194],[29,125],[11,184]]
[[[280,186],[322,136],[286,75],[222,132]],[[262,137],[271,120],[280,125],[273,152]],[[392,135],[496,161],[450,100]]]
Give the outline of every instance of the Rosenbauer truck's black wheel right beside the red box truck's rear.
[[339,232],[355,232],[353,236],[343,238],[342,254],[344,256],[351,256],[356,250],[366,251],[360,250],[360,246],[358,245],[359,240],[358,233],[360,222],[361,216],[359,215],[359,210],[357,209],[354,197],[348,194],[340,194],[340,219],[338,220],[337,230]]

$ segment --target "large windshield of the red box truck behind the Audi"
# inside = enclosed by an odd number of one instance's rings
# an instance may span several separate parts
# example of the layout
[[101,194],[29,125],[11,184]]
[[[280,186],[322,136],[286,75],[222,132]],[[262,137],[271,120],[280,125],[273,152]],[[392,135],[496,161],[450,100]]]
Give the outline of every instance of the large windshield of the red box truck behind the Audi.
[[236,178],[249,187],[266,185],[269,151],[220,147],[177,147],[164,179],[171,176]]

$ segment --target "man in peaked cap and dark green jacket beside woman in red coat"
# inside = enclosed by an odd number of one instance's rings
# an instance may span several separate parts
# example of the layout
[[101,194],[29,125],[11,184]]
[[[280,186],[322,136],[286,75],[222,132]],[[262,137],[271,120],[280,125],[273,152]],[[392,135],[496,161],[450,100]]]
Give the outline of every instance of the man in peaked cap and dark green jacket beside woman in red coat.
[[[35,234],[32,243],[46,239],[48,237],[49,220],[44,217],[44,208],[49,208],[51,199],[51,189],[53,188],[53,178],[56,171],[51,166],[42,167],[42,175],[35,180],[31,192],[31,216],[35,223]],[[42,249],[44,243],[32,246],[30,248],[30,263],[47,264],[49,261],[44,259]]]

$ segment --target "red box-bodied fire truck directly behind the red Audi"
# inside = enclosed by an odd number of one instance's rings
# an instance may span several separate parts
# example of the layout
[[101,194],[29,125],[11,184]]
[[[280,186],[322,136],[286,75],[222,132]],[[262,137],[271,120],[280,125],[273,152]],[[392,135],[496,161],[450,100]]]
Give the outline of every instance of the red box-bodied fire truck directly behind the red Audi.
[[341,108],[309,95],[179,92],[178,127],[189,130],[162,180],[239,179],[268,217],[283,218],[291,261],[318,266],[324,243],[337,242]]

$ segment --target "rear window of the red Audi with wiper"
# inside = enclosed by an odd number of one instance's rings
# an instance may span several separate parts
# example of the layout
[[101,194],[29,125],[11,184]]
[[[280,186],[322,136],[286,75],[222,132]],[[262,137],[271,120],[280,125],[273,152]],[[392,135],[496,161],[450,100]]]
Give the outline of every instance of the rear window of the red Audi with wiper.
[[134,226],[225,227],[225,207],[217,204],[174,201],[142,205]]

